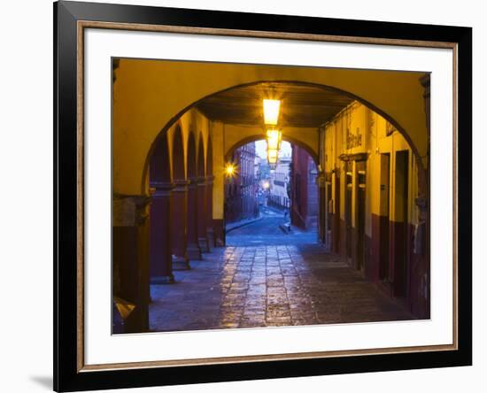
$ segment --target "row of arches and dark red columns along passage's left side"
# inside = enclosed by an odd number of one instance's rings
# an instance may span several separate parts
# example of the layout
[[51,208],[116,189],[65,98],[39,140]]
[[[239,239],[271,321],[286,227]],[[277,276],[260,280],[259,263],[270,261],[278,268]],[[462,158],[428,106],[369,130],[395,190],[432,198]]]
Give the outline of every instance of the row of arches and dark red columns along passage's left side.
[[[190,269],[190,260],[211,250],[212,149],[203,133],[174,127],[172,148],[168,134],[158,136],[149,160],[150,281],[174,282],[174,270]],[[186,154],[185,154],[186,153]],[[208,214],[209,212],[209,214]]]

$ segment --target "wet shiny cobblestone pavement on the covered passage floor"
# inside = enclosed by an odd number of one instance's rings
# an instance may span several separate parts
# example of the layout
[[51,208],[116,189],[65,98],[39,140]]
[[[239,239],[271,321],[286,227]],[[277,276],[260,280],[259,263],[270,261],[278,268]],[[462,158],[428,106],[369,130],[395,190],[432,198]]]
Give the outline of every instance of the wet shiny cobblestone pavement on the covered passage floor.
[[411,320],[318,243],[228,246],[151,286],[152,331]]

